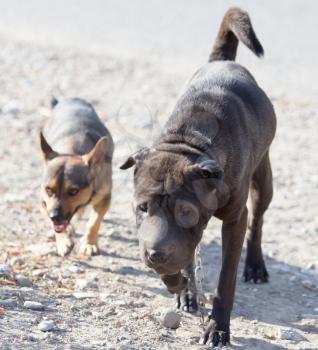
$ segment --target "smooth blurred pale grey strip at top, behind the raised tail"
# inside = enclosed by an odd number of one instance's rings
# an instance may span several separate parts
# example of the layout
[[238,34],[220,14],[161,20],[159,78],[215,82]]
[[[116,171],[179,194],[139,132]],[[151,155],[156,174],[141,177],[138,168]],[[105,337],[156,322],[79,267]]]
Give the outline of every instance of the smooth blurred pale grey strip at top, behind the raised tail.
[[142,61],[156,59],[172,70],[186,67],[189,73],[206,62],[226,9],[241,6],[252,18],[265,59],[258,61],[240,46],[238,61],[252,64],[254,74],[271,91],[279,91],[281,85],[288,87],[281,93],[317,95],[317,84],[308,83],[318,78],[315,0],[1,0],[0,4],[1,33]]

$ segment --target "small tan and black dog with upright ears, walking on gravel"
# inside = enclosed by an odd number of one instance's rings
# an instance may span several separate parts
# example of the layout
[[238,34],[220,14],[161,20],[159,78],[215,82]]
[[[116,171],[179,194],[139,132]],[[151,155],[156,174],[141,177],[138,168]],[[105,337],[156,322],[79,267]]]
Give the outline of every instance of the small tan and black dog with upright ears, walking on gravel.
[[98,230],[112,189],[113,140],[94,108],[79,98],[52,101],[52,116],[41,132],[45,168],[42,206],[55,230],[57,251],[73,248],[71,220],[91,205],[80,253],[98,253]]

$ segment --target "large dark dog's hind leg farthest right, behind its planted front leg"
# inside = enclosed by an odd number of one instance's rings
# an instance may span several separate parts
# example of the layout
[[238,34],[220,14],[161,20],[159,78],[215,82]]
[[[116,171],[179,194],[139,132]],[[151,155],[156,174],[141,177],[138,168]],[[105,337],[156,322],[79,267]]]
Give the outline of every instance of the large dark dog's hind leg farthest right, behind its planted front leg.
[[268,282],[268,272],[262,253],[263,215],[273,197],[272,171],[268,153],[253,174],[250,185],[252,213],[249,218],[247,236],[247,256],[244,281]]

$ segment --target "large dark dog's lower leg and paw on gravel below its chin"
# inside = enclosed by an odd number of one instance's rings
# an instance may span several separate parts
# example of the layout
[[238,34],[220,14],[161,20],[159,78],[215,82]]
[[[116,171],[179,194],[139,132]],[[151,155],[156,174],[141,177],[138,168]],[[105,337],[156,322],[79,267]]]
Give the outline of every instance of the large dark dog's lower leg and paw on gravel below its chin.
[[187,312],[196,312],[198,302],[193,263],[183,271],[183,275],[188,278],[188,286],[176,296],[177,308]]

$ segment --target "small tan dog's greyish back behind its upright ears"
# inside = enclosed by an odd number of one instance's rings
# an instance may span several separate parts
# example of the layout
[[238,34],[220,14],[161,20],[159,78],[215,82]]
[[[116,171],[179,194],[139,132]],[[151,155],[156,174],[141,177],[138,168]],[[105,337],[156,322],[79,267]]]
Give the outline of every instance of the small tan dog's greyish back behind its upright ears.
[[113,153],[110,132],[91,104],[80,98],[67,98],[52,103],[52,116],[44,128],[44,136],[60,153],[83,155],[103,136],[109,139],[108,156]]

